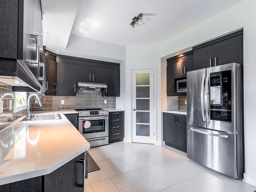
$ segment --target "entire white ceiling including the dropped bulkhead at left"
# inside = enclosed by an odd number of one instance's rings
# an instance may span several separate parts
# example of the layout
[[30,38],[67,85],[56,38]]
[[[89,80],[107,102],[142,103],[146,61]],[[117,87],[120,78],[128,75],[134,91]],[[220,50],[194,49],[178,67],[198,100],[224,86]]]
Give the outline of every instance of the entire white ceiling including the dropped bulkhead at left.
[[[50,34],[44,45],[67,55],[125,60],[126,46],[162,42],[241,1],[41,0],[44,32]],[[148,20],[132,28],[139,13]]]

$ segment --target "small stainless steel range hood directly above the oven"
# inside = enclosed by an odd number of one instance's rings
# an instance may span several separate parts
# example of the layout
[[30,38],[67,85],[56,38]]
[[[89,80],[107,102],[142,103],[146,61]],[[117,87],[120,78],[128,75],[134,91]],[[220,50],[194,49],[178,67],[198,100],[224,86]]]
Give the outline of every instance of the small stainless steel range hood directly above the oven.
[[99,92],[102,89],[106,89],[106,83],[96,83],[96,82],[77,82],[77,91],[82,93],[87,92]]

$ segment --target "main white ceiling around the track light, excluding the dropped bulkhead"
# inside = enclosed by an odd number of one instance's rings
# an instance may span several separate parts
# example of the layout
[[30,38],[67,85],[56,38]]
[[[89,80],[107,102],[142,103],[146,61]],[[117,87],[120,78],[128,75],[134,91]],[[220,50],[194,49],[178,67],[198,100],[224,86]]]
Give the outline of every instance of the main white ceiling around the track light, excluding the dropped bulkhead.
[[[131,46],[161,42],[241,0],[88,0],[81,1],[71,33]],[[148,20],[129,25],[139,13]]]

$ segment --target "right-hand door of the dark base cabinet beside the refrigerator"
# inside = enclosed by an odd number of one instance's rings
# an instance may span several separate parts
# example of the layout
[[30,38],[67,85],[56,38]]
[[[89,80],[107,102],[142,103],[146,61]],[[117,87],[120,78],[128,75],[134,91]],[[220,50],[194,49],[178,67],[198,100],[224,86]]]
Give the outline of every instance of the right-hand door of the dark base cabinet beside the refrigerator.
[[182,148],[184,152],[187,151],[187,116],[177,116],[177,146]]

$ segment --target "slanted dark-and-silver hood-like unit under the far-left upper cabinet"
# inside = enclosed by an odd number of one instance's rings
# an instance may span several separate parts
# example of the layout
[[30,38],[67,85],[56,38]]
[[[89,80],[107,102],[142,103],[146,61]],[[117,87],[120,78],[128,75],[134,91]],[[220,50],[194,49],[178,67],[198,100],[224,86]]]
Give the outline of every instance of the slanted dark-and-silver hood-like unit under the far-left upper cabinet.
[[41,88],[24,60],[1,58],[0,81],[12,86],[13,91],[40,92]]

